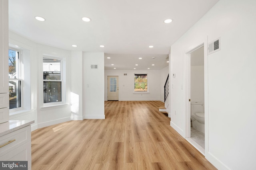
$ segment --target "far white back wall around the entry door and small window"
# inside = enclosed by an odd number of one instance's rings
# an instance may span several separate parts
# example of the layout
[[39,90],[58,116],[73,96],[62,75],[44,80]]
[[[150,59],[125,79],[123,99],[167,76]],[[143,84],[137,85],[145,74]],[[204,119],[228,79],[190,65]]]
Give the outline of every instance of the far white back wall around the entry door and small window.
[[[119,76],[119,101],[160,100],[161,70],[105,70],[105,100],[108,76]],[[127,76],[124,76],[124,73]],[[134,93],[134,73],[147,73],[149,93]]]

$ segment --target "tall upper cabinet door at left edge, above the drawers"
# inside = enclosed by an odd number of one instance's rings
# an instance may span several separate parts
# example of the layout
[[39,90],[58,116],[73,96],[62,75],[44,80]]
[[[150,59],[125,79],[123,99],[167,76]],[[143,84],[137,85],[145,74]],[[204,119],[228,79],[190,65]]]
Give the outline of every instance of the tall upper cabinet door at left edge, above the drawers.
[[8,0],[0,0],[0,93],[8,93]]

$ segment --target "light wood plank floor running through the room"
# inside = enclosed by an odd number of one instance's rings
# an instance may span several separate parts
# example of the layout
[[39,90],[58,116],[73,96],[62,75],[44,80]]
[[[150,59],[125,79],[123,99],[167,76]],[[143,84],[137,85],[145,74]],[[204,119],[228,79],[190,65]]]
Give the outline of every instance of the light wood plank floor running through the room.
[[158,111],[159,101],[105,102],[106,119],[32,132],[32,170],[215,170]]

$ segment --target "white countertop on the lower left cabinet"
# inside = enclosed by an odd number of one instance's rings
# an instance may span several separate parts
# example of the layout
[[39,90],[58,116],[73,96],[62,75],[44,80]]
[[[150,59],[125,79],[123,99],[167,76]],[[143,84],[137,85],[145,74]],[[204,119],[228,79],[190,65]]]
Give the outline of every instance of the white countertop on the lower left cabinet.
[[26,127],[28,125],[31,125],[34,122],[34,120],[10,120],[5,123],[0,123],[0,137],[13,131],[16,131],[18,129],[21,129],[23,127]]

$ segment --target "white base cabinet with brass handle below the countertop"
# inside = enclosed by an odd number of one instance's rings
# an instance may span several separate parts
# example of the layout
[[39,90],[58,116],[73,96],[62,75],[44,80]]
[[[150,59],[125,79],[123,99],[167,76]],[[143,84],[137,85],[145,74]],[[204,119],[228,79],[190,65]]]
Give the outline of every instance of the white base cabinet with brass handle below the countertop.
[[30,125],[0,137],[0,160],[26,160],[28,161],[28,169],[31,168]]

